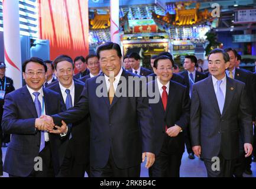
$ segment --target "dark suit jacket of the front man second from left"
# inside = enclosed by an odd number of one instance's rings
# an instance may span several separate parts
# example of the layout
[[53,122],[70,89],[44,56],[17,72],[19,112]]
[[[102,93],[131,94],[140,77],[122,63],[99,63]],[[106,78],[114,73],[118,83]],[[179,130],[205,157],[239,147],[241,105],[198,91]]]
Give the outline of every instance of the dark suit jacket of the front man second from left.
[[[74,105],[79,102],[80,95],[83,91],[84,84],[74,82]],[[57,92],[61,96],[61,102],[65,104],[64,99],[61,94],[59,82],[48,87],[48,89]],[[66,106],[64,107],[66,109]],[[78,120],[72,124],[72,138],[69,141],[69,145],[72,146],[72,154],[74,155],[74,161],[77,164],[86,164],[89,162],[89,149],[90,149],[90,119],[89,115],[84,115],[82,120]],[[67,138],[68,141],[68,138]],[[65,141],[66,142],[66,141]],[[63,148],[66,147],[67,144],[63,144]]]

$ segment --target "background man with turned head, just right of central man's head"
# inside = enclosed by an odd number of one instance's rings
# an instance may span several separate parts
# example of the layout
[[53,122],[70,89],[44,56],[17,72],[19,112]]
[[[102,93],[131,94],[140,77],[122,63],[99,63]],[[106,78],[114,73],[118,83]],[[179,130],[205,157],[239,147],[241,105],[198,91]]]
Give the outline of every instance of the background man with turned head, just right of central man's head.
[[138,53],[129,54],[129,63],[132,69],[128,71],[135,73],[139,76],[148,76],[149,74],[153,73],[153,71],[150,71],[140,66],[141,57]]

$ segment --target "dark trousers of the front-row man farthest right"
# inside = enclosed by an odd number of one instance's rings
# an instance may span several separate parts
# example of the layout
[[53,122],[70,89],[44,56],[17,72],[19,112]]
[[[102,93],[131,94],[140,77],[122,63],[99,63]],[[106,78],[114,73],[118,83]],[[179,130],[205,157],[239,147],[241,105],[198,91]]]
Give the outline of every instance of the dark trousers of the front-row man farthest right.
[[[212,170],[212,165],[216,164],[216,161],[212,161],[212,159],[203,158],[208,177],[233,177],[236,159],[226,160],[222,157],[221,154],[219,154],[218,157],[220,165],[219,170],[216,171]],[[213,167],[215,166],[213,165]]]

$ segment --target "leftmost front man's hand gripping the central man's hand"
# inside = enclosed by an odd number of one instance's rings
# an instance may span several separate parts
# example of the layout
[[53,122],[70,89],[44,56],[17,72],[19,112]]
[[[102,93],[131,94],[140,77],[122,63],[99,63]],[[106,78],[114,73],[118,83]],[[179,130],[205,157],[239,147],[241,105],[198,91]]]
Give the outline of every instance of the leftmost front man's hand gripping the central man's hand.
[[53,118],[42,115],[40,118],[35,119],[35,128],[39,131],[52,131],[54,128]]

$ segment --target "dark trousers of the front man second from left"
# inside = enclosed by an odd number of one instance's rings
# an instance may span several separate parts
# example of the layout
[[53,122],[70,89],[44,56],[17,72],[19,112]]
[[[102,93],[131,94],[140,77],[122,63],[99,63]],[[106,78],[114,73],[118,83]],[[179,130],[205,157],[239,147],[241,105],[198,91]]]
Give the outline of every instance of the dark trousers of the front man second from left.
[[[75,160],[71,149],[75,147],[76,146],[70,145],[70,142],[69,145],[67,145],[66,154],[57,177],[85,177],[85,172],[88,174],[88,177],[90,177],[90,163],[88,161],[79,164],[79,162]],[[73,149],[73,151],[74,150],[76,149]]]

